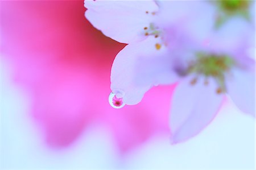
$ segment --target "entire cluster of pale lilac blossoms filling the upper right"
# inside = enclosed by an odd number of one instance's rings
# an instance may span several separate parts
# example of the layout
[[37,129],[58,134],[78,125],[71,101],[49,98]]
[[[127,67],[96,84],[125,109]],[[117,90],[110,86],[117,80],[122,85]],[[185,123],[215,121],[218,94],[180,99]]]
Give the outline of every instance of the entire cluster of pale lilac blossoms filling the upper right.
[[[172,143],[207,126],[224,96],[254,115],[255,61],[248,52],[255,47],[254,2],[140,1],[141,9],[131,3],[85,1],[85,16],[105,35],[133,37],[112,66],[111,89],[118,98],[135,105],[152,86],[179,81],[170,110]],[[114,30],[102,19],[115,23]]]

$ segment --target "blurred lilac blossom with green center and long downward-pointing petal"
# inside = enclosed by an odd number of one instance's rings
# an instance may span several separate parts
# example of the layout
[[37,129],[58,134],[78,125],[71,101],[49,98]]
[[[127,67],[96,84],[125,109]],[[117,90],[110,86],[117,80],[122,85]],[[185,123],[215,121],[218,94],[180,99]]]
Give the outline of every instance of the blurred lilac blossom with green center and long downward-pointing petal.
[[172,97],[172,142],[188,139],[207,126],[227,94],[239,109],[254,116],[255,60],[248,53],[254,47],[254,34],[245,20],[232,19],[209,37],[208,45],[191,51],[193,58],[186,60],[188,67],[183,70],[186,76]]

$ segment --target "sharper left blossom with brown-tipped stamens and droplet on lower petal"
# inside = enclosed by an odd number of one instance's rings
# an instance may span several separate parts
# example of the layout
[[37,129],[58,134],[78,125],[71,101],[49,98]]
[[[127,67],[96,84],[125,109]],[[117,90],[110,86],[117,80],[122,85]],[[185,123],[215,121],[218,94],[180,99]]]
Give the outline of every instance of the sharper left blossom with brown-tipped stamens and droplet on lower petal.
[[[164,76],[156,73],[154,77],[151,75],[143,78],[143,81],[135,78],[138,74],[135,71],[138,58],[167,55],[164,29],[170,27],[169,24],[176,26],[181,22],[187,22],[187,25],[194,26],[191,36],[195,37],[199,36],[197,26],[203,22],[209,23],[206,27],[211,28],[212,22],[208,21],[213,15],[211,5],[192,1],[186,3],[184,6],[184,2],[179,1],[85,1],[85,7],[88,8],[85,16],[94,27],[118,42],[129,43],[115,57],[111,74],[112,92],[118,98],[123,98],[127,105],[140,102],[144,93],[152,86],[171,84],[179,77],[175,72],[169,72],[172,70],[170,68],[165,70]],[[184,10],[180,10],[181,7]],[[201,13],[195,12],[205,8],[209,9],[206,15],[201,16]],[[201,20],[195,19],[199,16]],[[126,22],[123,22],[124,20]],[[201,38],[203,35],[204,33],[200,32]],[[158,64],[153,67],[162,68]]]

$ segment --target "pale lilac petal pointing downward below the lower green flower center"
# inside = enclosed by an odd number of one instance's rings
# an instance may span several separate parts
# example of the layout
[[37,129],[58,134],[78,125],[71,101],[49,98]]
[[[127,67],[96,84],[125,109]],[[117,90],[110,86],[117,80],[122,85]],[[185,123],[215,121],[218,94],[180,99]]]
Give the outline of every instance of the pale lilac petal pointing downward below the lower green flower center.
[[192,85],[193,77],[187,77],[177,85],[171,102],[170,126],[172,143],[189,139],[199,133],[216,115],[223,99],[217,94],[216,83],[208,85],[203,78]]

